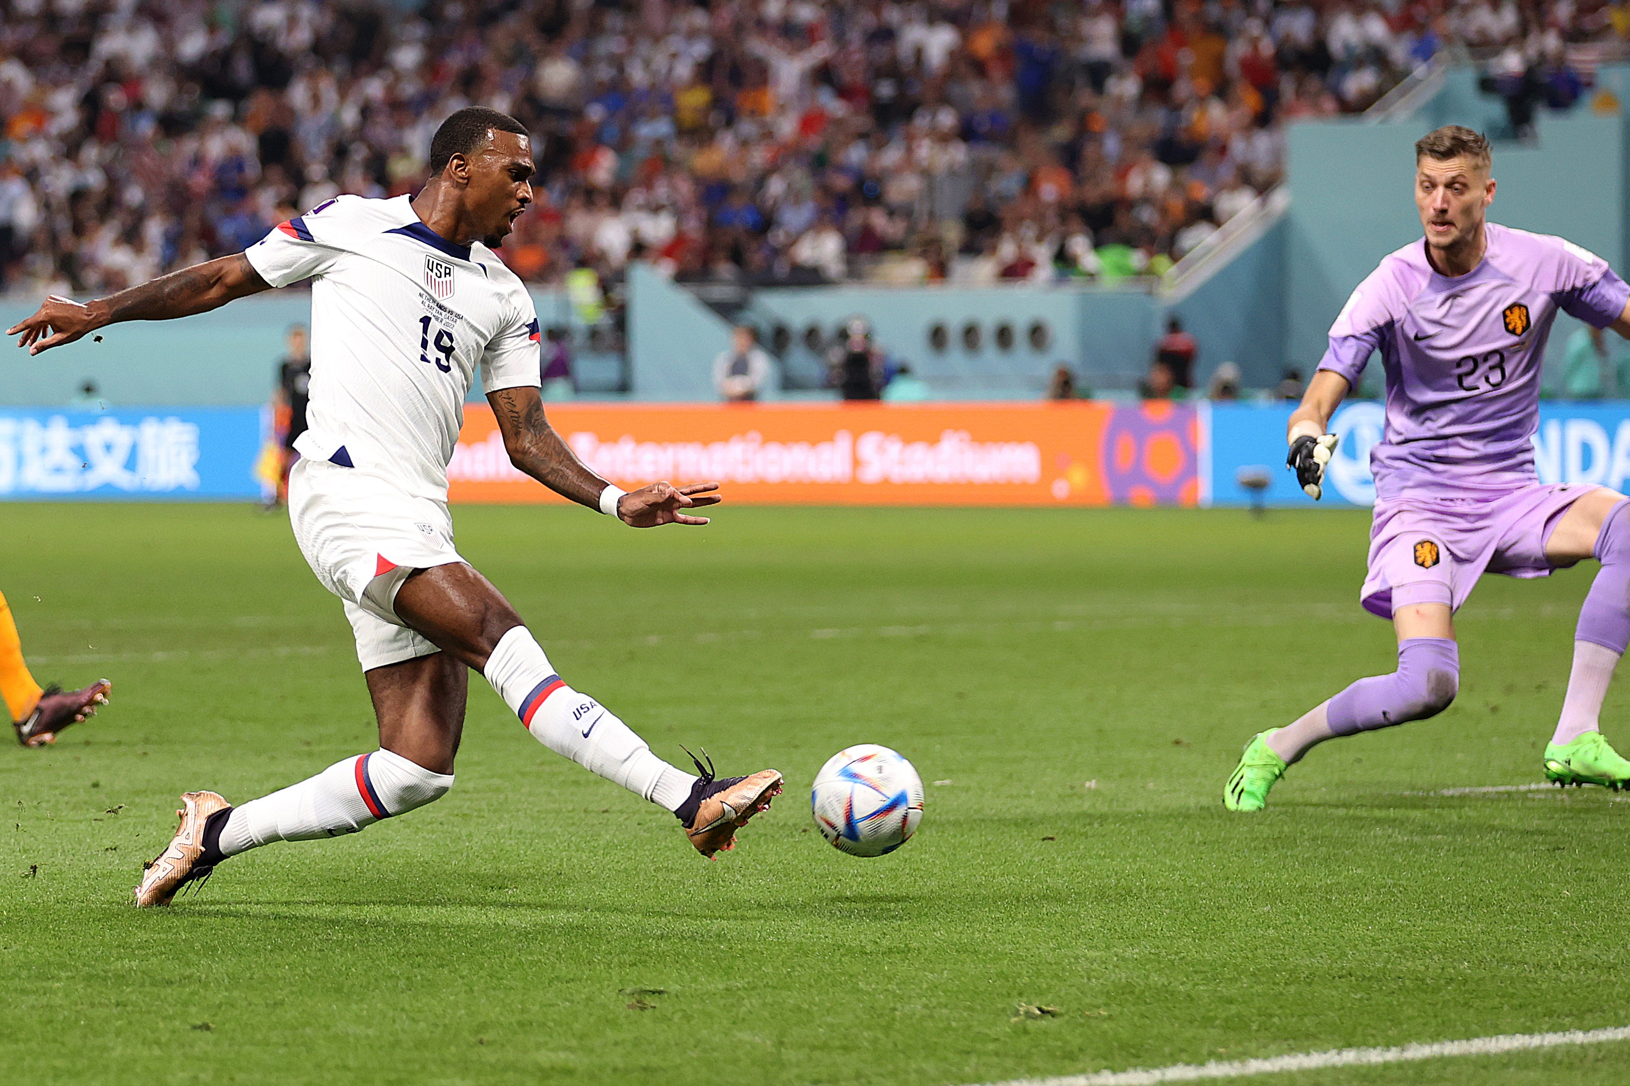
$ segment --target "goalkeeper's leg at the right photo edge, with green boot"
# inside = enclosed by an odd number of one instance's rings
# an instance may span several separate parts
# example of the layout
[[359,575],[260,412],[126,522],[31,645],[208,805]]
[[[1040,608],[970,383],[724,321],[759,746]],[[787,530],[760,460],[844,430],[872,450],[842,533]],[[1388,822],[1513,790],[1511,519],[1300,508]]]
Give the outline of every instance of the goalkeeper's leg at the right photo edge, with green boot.
[[1597,558],[1602,568],[1579,607],[1573,668],[1557,729],[1545,746],[1545,778],[1558,785],[1630,786],[1630,762],[1601,733],[1602,698],[1630,643],[1630,501],[1599,487],[1563,513],[1545,541],[1557,567]]

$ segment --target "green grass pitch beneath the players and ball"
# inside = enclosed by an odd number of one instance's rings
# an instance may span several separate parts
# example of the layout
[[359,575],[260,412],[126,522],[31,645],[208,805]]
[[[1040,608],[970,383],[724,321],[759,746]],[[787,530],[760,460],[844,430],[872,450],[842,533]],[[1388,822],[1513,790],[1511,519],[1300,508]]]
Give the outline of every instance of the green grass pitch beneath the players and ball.
[[[1229,816],[1253,731],[1392,666],[1359,513],[456,519],[574,687],[670,760],[782,769],[774,811],[706,863],[476,681],[443,801],[137,912],[179,791],[248,799],[373,747],[349,627],[282,516],[0,506],[36,674],[114,681],[59,747],[0,754],[5,1081],[931,1086],[1630,1024],[1630,806],[1430,795],[1539,780],[1589,570],[1485,580],[1454,708]],[[861,741],[927,783],[880,860],[807,808]],[[1623,1083],[1627,1058],[1249,1081]]]

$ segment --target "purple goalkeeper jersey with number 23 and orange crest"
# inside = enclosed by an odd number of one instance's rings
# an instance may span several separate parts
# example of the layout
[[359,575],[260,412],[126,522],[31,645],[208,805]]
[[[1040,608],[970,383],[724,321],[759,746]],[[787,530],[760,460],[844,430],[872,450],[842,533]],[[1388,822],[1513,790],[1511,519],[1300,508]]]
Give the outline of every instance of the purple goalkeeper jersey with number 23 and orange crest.
[[1379,500],[1493,497],[1539,482],[1540,366],[1557,309],[1606,327],[1630,287],[1550,234],[1488,223],[1482,264],[1447,278],[1418,239],[1387,256],[1330,326],[1319,361],[1358,386],[1371,352],[1387,373],[1387,427],[1369,453]]

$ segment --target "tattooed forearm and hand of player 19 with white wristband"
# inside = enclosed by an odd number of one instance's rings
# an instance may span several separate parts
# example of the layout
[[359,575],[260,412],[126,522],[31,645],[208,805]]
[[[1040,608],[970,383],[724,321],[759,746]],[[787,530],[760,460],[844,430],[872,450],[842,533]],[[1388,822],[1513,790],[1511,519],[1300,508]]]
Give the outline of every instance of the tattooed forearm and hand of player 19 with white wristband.
[[[504,448],[510,462],[562,498],[570,498],[590,510],[601,510],[600,498],[611,484],[588,471],[572,448],[561,440],[543,414],[543,396],[533,386],[487,392],[492,414],[504,435]],[[634,528],[659,524],[706,524],[706,516],[691,516],[685,510],[719,505],[724,498],[714,493],[716,482],[675,487],[654,482],[639,490],[629,490],[616,500],[616,516]],[[613,492],[615,493],[615,492]],[[610,500],[610,497],[606,498]]]

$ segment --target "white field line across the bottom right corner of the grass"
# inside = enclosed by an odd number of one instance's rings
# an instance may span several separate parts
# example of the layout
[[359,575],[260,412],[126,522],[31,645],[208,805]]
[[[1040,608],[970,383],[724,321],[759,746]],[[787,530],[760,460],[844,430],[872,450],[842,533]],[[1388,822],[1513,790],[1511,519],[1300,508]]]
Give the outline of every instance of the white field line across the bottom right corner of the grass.
[[1015,1078],[996,1086],[1156,1086],[1156,1083],[1196,1083],[1209,1078],[1317,1071],[1327,1066],[1376,1066],[1379,1063],[1410,1063],[1452,1055],[1498,1055],[1501,1052],[1527,1052],[1531,1049],[1557,1049],[1562,1045],[1599,1045],[1610,1040],[1630,1040],[1630,1026],[1570,1029],[1557,1034],[1504,1034],[1500,1037],[1415,1044],[1403,1045],[1402,1049],[1333,1049],[1330,1052],[1276,1055],[1263,1060],[1175,1063],[1151,1070],[1094,1071],[1090,1075],[1064,1075],[1063,1078]]

